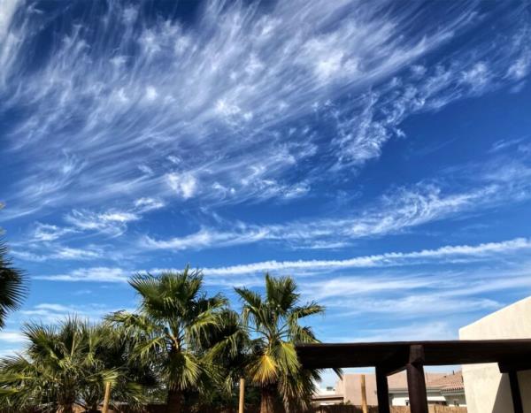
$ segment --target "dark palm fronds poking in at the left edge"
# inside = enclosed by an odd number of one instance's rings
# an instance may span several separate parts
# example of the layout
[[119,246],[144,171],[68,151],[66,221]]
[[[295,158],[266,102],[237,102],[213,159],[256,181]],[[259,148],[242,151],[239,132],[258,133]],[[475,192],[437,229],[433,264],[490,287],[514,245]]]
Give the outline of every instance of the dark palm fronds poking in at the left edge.
[[19,308],[26,292],[24,273],[12,266],[7,247],[0,241],[0,328],[7,314]]

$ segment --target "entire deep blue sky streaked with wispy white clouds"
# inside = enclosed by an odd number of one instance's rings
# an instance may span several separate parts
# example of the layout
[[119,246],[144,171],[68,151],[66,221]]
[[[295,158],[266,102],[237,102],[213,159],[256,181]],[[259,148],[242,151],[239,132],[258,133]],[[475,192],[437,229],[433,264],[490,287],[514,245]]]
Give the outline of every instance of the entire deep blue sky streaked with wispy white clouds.
[[0,332],[291,275],[320,340],[443,340],[531,295],[531,4],[0,0]]

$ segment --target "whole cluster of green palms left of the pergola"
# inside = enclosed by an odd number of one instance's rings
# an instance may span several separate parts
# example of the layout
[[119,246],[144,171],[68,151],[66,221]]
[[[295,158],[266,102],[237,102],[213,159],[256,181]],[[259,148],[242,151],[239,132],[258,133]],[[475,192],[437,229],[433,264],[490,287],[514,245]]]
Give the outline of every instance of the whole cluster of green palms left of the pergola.
[[111,383],[112,402],[133,409],[158,401],[169,413],[230,410],[241,378],[246,402],[262,413],[310,407],[319,371],[302,368],[296,343],[317,341],[301,321],[324,309],[301,302],[293,279],[266,274],[265,294],[235,288],[241,314],[223,295],[207,295],[202,273],[189,267],[136,274],[129,284],[135,312],[96,325],[77,317],[25,325],[25,350],[0,361],[0,408],[96,412]]

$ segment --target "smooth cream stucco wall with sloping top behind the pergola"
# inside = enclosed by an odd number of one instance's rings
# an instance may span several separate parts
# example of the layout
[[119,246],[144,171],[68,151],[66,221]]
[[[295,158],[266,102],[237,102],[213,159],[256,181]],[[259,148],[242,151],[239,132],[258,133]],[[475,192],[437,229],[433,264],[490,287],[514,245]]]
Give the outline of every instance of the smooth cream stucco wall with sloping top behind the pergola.
[[[531,297],[515,302],[459,330],[461,340],[531,338]],[[469,413],[513,413],[509,378],[497,364],[463,366]],[[531,412],[531,371],[519,372],[524,411]]]

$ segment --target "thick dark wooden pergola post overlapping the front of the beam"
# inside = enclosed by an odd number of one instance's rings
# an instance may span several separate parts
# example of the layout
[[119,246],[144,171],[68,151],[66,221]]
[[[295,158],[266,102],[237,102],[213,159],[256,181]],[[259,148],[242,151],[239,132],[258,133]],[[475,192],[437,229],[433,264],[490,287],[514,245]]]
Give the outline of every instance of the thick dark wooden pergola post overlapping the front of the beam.
[[410,362],[405,366],[411,413],[428,413],[423,362],[424,348],[419,345],[412,345]]

